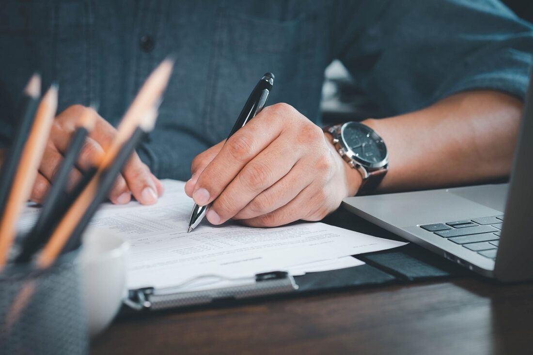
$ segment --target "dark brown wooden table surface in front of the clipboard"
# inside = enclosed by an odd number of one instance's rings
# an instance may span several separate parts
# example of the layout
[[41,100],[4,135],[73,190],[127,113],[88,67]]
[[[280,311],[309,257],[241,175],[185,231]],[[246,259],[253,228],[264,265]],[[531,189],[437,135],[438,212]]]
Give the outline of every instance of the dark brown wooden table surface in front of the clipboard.
[[532,355],[533,283],[468,275],[119,317],[91,353]]

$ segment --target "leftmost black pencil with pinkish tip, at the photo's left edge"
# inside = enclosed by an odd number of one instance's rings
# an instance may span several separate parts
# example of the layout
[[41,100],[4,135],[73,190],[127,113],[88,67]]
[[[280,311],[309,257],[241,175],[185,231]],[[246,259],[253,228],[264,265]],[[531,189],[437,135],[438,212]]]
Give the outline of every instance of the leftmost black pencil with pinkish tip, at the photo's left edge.
[[41,76],[34,74],[24,89],[24,95],[19,109],[19,122],[14,134],[14,140],[8,149],[5,162],[2,166],[2,172],[0,173],[0,216],[3,215],[22,149],[28,139],[31,124],[34,122],[40,95]]

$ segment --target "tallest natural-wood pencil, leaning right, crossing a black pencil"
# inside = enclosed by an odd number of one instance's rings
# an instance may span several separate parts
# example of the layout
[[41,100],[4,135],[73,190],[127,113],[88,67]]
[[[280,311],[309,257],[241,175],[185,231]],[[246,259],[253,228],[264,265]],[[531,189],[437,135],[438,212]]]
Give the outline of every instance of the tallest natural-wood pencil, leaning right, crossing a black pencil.
[[160,100],[170,78],[172,66],[172,60],[164,60],[141,87],[139,94],[126,111],[122,122],[120,122],[114,141],[106,154],[104,154],[100,164],[98,164],[98,171],[95,176],[63,216],[52,233],[50,240],[46,243],[41,254],[39,254],[37,258],[39,268],[46,268],[51,265],[61,253],[71,233],[74,232],[96,196],[103,172],[112,165],[123,144],[130,139],[135,128],[139,126],[149,110],[155,107],[155,104]]

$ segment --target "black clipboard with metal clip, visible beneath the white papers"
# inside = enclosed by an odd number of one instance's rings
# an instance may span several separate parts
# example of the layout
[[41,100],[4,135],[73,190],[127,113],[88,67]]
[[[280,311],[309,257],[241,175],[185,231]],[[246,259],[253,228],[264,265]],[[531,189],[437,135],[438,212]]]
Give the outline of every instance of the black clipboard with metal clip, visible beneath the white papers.
[[130,290],[122,313],[182,309],[214,304],[239,304],[245,300],[368,288],[391,284],[464,276],[467,270],[415,245],[354,255],[365,262],[356,267],[309,272],[292,276],[285,271],[255,275],[246,285],[192,292],[165,292],[151,287]]

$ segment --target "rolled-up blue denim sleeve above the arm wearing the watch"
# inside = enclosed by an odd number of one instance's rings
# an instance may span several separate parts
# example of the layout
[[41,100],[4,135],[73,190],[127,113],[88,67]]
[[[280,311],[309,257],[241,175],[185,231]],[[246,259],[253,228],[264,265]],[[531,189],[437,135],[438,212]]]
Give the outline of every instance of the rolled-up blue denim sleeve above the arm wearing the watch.
[[533,26],[497,0],[341,4],[333,49],[385,116],[454,93],[497,90],[524,100]]

